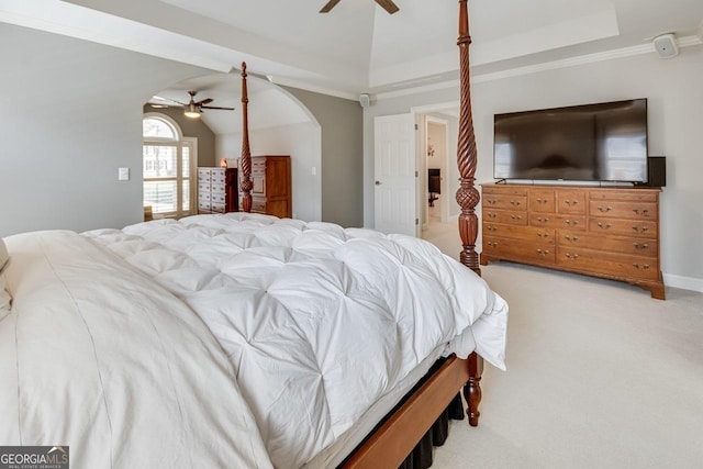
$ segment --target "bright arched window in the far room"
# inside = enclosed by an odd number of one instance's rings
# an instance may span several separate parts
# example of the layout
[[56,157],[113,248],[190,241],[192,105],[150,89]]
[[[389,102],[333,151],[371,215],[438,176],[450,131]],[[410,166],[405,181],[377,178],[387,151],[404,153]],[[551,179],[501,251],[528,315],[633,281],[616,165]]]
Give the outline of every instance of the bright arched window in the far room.
[[157,113],[144,116],[143,137],[145,213],[175,217],[191,214],[196,206],[191,187],[198,139],[182,137],[174,120]]

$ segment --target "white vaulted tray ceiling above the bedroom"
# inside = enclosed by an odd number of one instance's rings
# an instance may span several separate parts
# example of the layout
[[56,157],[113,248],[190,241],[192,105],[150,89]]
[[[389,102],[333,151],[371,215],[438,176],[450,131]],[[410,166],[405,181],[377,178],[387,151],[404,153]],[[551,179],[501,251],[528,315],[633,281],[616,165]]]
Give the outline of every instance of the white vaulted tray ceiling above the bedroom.
[[[456,0],[0,0],[0,21],[216,71],[247,62],[274,82],[358,97],[457,77]],[[470,0],[473,77],[578,57],[702,44],[701,0]]]

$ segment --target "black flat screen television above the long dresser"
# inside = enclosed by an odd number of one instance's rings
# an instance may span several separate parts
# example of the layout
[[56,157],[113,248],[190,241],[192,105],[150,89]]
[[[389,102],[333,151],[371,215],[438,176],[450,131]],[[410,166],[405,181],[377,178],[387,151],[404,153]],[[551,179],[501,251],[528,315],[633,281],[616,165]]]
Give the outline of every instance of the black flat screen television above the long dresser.
[[647,99],[494,115],[495,179],[647,181]]

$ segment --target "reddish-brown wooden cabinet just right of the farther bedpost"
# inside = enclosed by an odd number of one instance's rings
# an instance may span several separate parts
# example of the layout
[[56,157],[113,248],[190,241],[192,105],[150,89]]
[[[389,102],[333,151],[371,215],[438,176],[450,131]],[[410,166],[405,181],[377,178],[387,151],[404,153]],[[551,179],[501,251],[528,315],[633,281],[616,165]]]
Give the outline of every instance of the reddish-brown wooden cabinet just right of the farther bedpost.
[[292,216],[290,156],[253,156],[252,181],[252,212]]

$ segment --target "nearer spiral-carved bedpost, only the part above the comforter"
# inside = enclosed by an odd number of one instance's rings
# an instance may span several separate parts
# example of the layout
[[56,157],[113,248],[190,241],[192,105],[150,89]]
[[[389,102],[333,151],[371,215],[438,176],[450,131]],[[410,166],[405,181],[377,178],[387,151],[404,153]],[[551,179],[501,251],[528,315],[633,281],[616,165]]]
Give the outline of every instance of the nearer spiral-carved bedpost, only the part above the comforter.
[[479,255],[476,253],[476,238],[479,234],[479,219],[476,215],[476,205],[479,203],[479,191],[473,186],[477,152],[476,136],[473,135],[473,120],[471,118],[471,92],[469,72],[469,12],[467,0],[459,0],[459,75],[461,109],[459,113],[459,143],[457,145],[457,164],[461,186],[457,191],[457,202],[461,208],[459,215],[459,235],[464,249],[459,256],[461,264],[481,275]]

